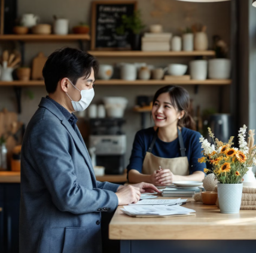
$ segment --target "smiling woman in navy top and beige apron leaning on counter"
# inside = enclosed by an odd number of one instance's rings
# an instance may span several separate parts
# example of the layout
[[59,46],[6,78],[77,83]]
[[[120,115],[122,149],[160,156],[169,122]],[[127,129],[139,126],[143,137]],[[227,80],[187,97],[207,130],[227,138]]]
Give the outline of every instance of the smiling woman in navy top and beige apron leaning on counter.
[[172,181],[198,180],[205,177],[200,133],[188,113],[190,97],[178,86],[160,88],[154,95],[152,117],[155,126],[137,132],[133,143],[127,178],[168,186]]

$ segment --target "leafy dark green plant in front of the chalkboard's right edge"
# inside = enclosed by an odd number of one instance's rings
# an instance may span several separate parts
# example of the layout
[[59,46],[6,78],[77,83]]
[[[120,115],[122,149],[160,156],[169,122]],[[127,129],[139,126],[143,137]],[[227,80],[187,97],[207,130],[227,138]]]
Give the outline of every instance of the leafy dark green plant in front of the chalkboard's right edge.
[[123,15],[121,21],[121,26],[117,27],[117,33],[124,34],[128,30],[132,50],[141,50],[141,31],[145,27],[141,20],[141,11],[134,11],[132,16]]

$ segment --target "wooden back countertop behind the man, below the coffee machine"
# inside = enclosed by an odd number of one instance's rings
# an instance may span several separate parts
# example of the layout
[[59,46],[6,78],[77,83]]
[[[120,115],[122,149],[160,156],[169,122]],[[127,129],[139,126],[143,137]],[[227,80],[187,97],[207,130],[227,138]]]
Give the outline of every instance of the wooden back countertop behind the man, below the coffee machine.
[[[126,182],[126,171],[123,175],[103,175],[96,177],[98,181],[108,181],[111,183]],[[16,171],[0,171],[0,183],[20,183],[20,172]]]

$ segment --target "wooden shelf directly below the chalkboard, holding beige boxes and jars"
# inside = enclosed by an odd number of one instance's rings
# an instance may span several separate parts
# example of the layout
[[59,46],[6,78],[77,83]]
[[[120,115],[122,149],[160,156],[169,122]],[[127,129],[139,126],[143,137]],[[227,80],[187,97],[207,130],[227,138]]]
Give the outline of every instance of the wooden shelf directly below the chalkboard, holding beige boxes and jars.
[[88,51],[98,57],[215,56],[215,51]]

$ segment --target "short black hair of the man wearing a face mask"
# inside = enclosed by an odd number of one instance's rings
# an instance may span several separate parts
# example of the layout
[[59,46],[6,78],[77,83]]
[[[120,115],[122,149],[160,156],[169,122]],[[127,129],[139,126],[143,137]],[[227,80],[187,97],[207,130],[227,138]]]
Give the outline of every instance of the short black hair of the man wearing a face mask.
[[93,55],[69,47],[56,50],[48,57],[42,70],[45,88],[48,93],[55,92],[63,78],[68,78],[75,85],[78,78],[90,76],[92,69],[96,75],[99,62]]

